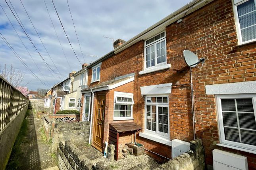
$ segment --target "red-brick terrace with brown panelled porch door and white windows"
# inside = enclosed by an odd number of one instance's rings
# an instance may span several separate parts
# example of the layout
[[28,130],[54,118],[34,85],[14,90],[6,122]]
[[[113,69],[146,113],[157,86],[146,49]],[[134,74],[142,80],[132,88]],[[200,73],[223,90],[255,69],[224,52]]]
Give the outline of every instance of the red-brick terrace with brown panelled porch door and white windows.
[[[118,149],[136,139],[163,161],[174,139],[195,137],[209,168],[214,149],[247,157],[256,168],[255,11],[255,0],[195,0],[131,40],[116,40],[86,67],[80,120],[91,123],[92,146],[102,151],[108,141]],[[192,68],[194,101],[185,49],[206,59]],[[129,123],[113,138],[113,128]]]

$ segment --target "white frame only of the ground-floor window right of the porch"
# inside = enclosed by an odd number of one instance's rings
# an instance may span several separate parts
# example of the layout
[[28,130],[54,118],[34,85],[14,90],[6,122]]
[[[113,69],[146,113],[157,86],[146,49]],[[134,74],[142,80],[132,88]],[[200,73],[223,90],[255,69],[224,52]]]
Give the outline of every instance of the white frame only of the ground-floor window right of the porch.
[[[152,102],[149,103],[147,102],[146,98],[147,97],[167,97],[167,103],[159,103],[159,102]],[[148,134],[153,134],[156,136],[163,137],[167,140],[170,140],[170,115],[169,115],[169,95],[145,95],[144,96],[144,132]],[[156,131],[153,130],[148,130],[146,127],[146,121],[147,121],[147,113],[146,113],[146,106],[156,106]],[[168,134],[164,132],[159,132],[158,131],[158,124],[159,124],[159,119],[158,119],[158,107],[167,107],[168,111]]]

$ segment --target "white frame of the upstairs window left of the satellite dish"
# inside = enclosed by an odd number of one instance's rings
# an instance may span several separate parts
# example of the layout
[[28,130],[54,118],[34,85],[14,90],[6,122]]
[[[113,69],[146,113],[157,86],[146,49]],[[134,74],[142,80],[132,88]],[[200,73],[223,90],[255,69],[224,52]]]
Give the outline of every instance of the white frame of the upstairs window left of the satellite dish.
[[[162,34],[163,32],[164,32],[164,37],[159,38],[158,40],[156,40],[156,41],[154,41],[154,42],[149,43],[149,44],[146,45],[146,41],[147,41],[147,40],[150,40],[151,38],[157,36],[158,34]],[[158,33],[158,34],[155,34],[154,36],[152,36],[152,37],[150,37],[150,38],[144,40],[144,70],[151,70],[151,69],[158,68],[159,66],[162,66],[162,65],[167,64],[167,49],[165,50],[166,61],[165,61],[165,62],[160,62],[159,64],[157,64],[157,49],[156,49],[157,47],[156,47],[156,44],[165,41],[165,48],[166,48],[166,31],[163,31],[163,32],[160,32],[160,33]],[[152,46],[152,45],[154,45],[154,53],[155,53],[155,55],[154,55],[154,60],[155,60],[155,65],[154,65],[154,66],[150,66],[150,67],[147,68],[147,67],[146,67],[146,48],[147,48],[147,47],[150,47],[150,46]]]

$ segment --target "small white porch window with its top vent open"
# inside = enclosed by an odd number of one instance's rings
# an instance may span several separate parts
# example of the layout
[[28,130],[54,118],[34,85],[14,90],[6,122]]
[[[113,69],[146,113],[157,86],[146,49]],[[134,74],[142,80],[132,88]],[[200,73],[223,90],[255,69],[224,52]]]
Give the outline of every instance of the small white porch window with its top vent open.
[[133,119],[133,94],[115,92],[114,120]]

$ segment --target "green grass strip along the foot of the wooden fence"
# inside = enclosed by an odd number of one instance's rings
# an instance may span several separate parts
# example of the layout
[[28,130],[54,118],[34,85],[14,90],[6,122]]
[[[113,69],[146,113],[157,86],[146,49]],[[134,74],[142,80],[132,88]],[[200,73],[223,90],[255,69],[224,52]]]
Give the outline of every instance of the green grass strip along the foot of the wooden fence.
[[22,151],[22,140],[24,136],[27,134],[27,129],[28,129],[28,120],[26,117],[31,114],[31,110],[27,110],[25,119],[23,120],[21,124],[21,128],[19,130],[19,134],[14,142],[13,148],[12,148],[12,153],[10,156],[10,159],[8,161],[8,164],[6,166],[6,170],[18,170],[21,168],[19,158],[23,157],[24,153]]

